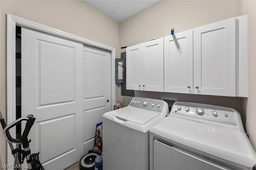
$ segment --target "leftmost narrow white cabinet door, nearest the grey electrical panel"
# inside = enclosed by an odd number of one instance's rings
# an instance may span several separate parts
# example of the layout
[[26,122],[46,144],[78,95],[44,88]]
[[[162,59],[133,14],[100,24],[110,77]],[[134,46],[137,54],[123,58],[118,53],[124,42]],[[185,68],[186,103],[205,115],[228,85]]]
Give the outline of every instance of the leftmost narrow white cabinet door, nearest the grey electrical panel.
[[126,48],[126,89],[142,90],[142,44]]

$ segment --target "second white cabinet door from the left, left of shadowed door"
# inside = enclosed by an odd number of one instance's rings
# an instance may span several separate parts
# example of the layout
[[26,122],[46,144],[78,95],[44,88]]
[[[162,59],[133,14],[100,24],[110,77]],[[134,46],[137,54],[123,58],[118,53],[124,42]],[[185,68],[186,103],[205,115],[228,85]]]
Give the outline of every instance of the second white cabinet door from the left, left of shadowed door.
[[142,90],[164,91],[164,38],[142,43]]

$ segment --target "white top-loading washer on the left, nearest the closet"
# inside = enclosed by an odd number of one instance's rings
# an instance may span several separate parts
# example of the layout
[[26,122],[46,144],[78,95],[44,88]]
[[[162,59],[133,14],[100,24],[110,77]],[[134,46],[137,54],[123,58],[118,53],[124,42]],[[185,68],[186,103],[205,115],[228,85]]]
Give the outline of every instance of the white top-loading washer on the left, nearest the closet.
[[134,97],[103,115],[103,169],[148,170],[149,130],[169,114],[162,100]]

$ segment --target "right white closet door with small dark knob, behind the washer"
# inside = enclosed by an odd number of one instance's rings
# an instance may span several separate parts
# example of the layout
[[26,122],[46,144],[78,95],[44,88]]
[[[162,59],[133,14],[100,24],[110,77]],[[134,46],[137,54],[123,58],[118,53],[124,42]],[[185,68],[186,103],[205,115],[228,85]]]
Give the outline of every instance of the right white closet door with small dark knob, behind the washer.
[[84,47],[84,154],[94,139],[97,123],[111,109],[110,64],[109,51]]

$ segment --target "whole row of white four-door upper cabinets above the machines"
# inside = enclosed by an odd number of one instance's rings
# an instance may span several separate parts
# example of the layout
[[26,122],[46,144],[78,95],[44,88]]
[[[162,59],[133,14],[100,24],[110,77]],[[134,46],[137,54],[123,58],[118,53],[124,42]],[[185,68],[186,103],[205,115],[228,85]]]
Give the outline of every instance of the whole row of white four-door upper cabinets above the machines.
[[126,49],[129,90],[248,96],[247,15]]

